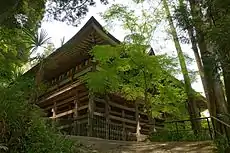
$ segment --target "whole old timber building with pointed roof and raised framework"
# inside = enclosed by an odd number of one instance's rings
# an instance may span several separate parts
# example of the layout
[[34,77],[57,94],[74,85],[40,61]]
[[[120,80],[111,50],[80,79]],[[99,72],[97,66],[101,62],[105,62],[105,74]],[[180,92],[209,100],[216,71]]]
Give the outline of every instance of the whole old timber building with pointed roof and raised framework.
[[147,135],[153,125],[160,126],[157,125],[161,120],[153,120],[143,112],[143,104],[128,102],[118,95],[93,95],[79,80],[87,72],[97,70],[89,55],[94,45],[119,43],[92,17],[45,59],[42,73],[40,64],[28,71],[42,74],[40,81],[48,89],[40,95],[37,104],[68,134],[130,140],[136,135]]

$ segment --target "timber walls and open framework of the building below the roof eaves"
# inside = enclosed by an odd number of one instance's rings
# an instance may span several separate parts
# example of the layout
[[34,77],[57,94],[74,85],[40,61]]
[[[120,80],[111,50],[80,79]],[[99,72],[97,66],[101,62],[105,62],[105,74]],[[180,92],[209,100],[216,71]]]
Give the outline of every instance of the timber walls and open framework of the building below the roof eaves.
[[[136,134],[148,134],[150,125],[147,115],[140,109],[142,105],[126,104],[125,100],[116,100],[111,95],[99,98],[89,94],[78,78],[93,69],[95,65],[86,60],[75,70],[55,78],[38,104],[50,112],[52,119],[60,122],[71,120],[71,134],[118,140],[136,139]],[[87,128],[81,125],[87,125]]]

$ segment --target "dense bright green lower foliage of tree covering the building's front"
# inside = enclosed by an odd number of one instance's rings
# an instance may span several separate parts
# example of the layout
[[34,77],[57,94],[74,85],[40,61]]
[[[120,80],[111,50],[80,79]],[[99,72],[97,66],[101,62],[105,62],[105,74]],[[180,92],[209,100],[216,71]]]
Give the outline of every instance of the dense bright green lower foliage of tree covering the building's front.
[[141,45],[96,46],[92,55],[99,62],[96,72],[83,79],[89,89],[99,93],[119,93],[128,100],[145,102],[152,116],[172,113],[184,106],[183,89],[171,80],[172,60],[165,56],[149,56]]

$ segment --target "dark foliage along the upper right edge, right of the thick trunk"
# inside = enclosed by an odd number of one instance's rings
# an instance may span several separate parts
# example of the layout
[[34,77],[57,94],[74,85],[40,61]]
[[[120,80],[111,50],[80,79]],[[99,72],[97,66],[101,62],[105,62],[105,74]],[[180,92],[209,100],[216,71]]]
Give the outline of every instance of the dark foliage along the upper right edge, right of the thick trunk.
[[220,63],[224,85],[227,97],[228,112],[230,112],[230,52],[229,52],[229,1],[214,0],[206,3],[207,14],[206,18],[209,21],[209,27],[207,27],[207,39],[213,46],[214,52],[217,54],[217,62]]

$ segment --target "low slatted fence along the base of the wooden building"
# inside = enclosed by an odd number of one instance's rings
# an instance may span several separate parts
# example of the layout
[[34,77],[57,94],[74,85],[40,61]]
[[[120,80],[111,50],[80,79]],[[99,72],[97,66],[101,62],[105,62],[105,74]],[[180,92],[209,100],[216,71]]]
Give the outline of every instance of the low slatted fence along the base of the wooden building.
[[[128,127],[106,122],[105,118],[94,116],[92,137],[110,140],[135,140],[135,134],[128,132]],[[63,134],[88,136],[88,118],[58,119],[58,128]],[[133,127],[132,127],[133,128]]]

